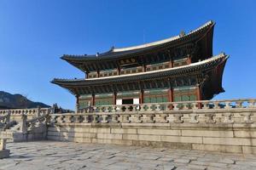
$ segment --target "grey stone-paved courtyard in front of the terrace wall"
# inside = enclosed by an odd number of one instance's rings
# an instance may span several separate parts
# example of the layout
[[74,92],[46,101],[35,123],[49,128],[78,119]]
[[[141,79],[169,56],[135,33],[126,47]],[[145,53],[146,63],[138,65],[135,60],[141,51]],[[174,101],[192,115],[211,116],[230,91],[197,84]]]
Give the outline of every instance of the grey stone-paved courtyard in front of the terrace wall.
[[38,141],[9,143],[1,170],[256,169],[256,156],[112,144]]

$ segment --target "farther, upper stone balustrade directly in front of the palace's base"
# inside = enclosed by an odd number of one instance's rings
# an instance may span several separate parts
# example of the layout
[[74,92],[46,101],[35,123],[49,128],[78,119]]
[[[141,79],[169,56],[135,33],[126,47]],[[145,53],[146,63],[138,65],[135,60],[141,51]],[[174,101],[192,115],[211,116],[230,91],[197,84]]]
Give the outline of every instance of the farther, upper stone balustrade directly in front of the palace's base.
[[152,111],[181,111],[181,110],[211,110],[231,108],[255,108],[256,99],[230,100],[201,100],[166,103],[148,103],[137,105],[101,105],[79,110],[79,113],[97,112],[152,112]]

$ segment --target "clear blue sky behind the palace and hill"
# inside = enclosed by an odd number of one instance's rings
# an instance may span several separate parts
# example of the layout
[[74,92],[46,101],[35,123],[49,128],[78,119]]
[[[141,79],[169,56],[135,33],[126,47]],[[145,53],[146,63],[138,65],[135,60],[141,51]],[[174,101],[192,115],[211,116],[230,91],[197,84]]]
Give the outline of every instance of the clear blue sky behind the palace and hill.
[[0,90],[73,109],[73,95],[50,81],[84,74],[62,54],[152,42],[214,20],[213,54],[230,54],[226,92],[214,99],[255,98],[255,8],[253,0],[0,0]]

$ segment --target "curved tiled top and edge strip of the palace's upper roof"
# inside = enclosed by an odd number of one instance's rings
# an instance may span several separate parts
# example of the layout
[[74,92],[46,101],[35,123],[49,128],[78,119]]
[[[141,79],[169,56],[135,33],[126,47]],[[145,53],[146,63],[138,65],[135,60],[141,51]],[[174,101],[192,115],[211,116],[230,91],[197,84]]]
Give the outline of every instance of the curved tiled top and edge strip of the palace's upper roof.
[[[109,50],[106,53],[98,54],[98,55],[63,55],[61,59],[66,60],[68,63],[76,66],[76,63],[80,63],[81,61],[100,61],[100,60],[108,60],[108,59],[116,59],[116,58],[122,58],[126,56],[130,56],[132,54],[140,54],[140,53],[146,53],[148,50],[153,50],[155,48],[162,48],[169,45],[178,45],[181,43],[189,42],[191,39],[196,37],[199,33],[202,33],[204,36],[204,32],[209,31],[209,29],[213,30],[215,23],[210,20],[205,25],[197,28],[195,31],[190,31],[187,35],[180,37],[170,37],[165,40],[161,40],[158,42],[151,42],[148,44],[143,44],[135,47],[130,48],[115,48],[112,50]],[[210,31],[211,31],[210,30]],[[211,41],[211,40],[209,40]],[[125,50],[126,49],[126,50]],[[212,56],[208,55],[208,56]]]

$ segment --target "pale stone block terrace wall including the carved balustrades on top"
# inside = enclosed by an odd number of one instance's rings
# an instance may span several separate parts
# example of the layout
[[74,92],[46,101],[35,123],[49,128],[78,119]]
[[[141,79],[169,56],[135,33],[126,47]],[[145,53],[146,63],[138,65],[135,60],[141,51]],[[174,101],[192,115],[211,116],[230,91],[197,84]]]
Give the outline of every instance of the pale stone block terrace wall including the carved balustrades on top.
[[201,102],[194,107],[180,105],[174,110],[169,105],[150,104],[149,110],[142,110],[140,105],[128,110],[101,108],[77,114],[53,114],[47,138],[256,154],[255,102],[235,103],[215,102],[207,106]]

